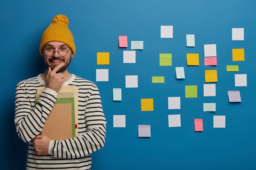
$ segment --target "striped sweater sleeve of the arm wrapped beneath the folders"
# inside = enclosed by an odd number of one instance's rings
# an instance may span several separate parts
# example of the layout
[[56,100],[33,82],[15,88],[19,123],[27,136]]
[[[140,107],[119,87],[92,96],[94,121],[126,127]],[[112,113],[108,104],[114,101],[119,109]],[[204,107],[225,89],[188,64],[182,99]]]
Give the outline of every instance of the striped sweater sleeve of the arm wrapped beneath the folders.
[[50,155],[63,159],[85,157],[105,145],[106,119],[98,88],[94,88],[90,93],[89,99],[85,102],[87,131],[71,139],[50,141],[48,148]]

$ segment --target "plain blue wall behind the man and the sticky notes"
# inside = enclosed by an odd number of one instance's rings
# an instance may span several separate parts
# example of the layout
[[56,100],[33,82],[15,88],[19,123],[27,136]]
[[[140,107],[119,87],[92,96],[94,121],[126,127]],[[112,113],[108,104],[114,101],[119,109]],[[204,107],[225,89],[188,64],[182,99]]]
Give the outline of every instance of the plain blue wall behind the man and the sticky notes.
[[[40,37],[58,14],[67,15],[76,43],[69,71],[99,87],[108,121],[106,146],[92,154],[92,170],[255,170],[255,47],[254,0],[26,0],[1,2],[0,53],[1,169],[25,169],[27,144],[13,123],[16,84],[45,71],[38,53]],[[160,26],[173,25],[173,38],[160,38]],[[232,41],[231,28],[244,28],[245,40]],[[195,34],[195,47],[186,47]],[[128,35],[128,48],[118,36]],[[143,40],[136,64],[123,64],[131,40]],[[204,66],[204,44],[216,44],[217,66]],[[232,62],[232,49],[244,48],[245,61]],[[110,52],[110,65],[97,65],[97,52]],[[172,53],[173,66],[160,67],[159,53]],[[200,66],[186,66],[186,53],[199,53]],[[234,86],[239,65],[247,87]],[[175,78],[184,66],[186,79]],[[96,69],[109,69],[109,82],[96,82]],[[204,70],[218,70],[216,97],[203,97]],[[125,88],[125,75],[138,75],[139,88]],[[152,84],[152,76],[165,76]],[[185,98],[184,86],[197,85],[198,98]],[[112,88],[122,88],[122,101],[112,101]],[[227,91],[240,90],[242,102],[228,102]],[[181,97],[180,110],[168,110],[167,97]],[[141,112],[140,99],[153,98],[154,111]],[[203,103],[216,112],[203,112]],[[168,128],[168,115],[181,114],[181,127]],[[126,128],[113,128],[113,115],[126,115]],[[226,128],[213,128],[213,115],[226,115]],[[202,118],[203,132],[194,132]],[[150,138],[138,138],[138,124],[151,125]]]

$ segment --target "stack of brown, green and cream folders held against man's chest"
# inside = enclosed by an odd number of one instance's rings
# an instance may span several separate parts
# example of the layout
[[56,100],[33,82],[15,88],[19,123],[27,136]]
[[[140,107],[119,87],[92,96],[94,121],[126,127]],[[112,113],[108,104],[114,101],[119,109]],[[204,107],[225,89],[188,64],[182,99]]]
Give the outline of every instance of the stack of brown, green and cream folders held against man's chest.
[[[45,87],[39,87],[36,102]],[[62,86],[54,107],[49,114],[41,135],[52,140],[65,140],[78,135],[78,89],[76,86]]]

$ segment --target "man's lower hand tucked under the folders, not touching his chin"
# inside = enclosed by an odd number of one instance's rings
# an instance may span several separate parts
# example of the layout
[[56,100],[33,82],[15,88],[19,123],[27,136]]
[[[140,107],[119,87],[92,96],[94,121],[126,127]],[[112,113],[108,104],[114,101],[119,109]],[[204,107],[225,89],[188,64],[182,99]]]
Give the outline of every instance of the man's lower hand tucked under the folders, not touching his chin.
[[34,152],[36,155],[48,155],[50,139],[46,136],[36,136],[34,138]]

